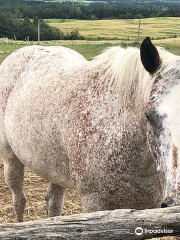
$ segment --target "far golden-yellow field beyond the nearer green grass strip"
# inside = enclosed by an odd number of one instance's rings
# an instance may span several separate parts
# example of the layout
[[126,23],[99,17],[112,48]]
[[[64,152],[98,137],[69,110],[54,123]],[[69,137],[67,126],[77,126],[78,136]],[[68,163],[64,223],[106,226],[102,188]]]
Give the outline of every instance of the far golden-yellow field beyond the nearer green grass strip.
[[[46,19],[47,21],[47,19]],[[58,27],[63,32],[77,29],[87,39],[119,39],[135,41],[138,31],[138,19],[113,19],[113,20],[72,20],[59,22],[59,19],[50,25]],[[141,22],[141,38],[151,36],[154,39],[172,38],[180,34],[180,18],[148,18]]]

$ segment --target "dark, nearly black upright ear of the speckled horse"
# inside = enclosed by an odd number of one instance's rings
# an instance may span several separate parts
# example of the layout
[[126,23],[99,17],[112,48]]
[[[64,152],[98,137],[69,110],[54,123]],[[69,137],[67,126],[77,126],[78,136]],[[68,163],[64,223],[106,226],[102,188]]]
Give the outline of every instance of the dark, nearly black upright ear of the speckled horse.
[[161,65],[161,59],[157,48],[152,44],[149,37],[145,38],[141,44],[141,61],[149,73],[153,74]]

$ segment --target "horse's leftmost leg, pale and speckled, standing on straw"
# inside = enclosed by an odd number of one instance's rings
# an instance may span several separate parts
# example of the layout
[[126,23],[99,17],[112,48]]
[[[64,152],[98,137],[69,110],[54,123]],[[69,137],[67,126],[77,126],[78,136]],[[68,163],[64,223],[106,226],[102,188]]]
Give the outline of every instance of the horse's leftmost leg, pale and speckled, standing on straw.
[[2,154],[6,183],[12,191],[13,208],[18,222],[23,221],[26,198],[23,193],[24,165],[15,156],[10,147]]

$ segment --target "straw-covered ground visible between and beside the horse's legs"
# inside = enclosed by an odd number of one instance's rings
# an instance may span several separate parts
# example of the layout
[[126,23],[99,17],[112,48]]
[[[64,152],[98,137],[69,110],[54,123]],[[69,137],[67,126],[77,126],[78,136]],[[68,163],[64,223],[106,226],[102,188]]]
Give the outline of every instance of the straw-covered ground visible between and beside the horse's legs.
[[[48,182],[31,171],[25,171],[24,192],[27,198],[24,221],[46,218],[45,195]],[[4,180],[3,164],[0,162],[0,223],[15,222],[12,209],[12,196]],[[63,215],[71,215],[82,212],[82,204],[74,190],[67,190]]]

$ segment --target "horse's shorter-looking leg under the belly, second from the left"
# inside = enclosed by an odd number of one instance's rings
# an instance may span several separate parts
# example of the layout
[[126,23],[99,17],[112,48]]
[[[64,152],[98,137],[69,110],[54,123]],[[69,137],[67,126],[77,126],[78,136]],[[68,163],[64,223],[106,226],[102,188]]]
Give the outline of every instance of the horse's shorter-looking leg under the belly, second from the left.
[[49,217],[62,215],[65,191],[64,187],[53,183],[49,184],[48,193],[45,198]]

